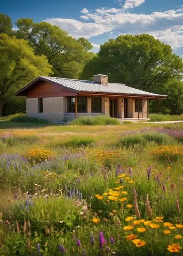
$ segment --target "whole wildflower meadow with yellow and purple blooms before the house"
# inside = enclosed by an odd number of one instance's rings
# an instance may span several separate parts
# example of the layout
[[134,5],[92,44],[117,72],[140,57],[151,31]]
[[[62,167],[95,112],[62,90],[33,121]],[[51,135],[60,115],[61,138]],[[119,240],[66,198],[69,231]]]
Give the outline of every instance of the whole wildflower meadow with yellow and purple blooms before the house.
[[182,255],[182,123],[0,128],[1,255]]

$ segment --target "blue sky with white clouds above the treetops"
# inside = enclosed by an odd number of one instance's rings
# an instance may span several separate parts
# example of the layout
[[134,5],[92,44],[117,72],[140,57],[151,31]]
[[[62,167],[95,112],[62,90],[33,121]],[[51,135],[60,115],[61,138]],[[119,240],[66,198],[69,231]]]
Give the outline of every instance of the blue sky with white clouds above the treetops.
[[183,57],[183,0],[0,0],[0,12],[15,21],[42,20],[85,37],[94,45],[123,34],[147,33]]

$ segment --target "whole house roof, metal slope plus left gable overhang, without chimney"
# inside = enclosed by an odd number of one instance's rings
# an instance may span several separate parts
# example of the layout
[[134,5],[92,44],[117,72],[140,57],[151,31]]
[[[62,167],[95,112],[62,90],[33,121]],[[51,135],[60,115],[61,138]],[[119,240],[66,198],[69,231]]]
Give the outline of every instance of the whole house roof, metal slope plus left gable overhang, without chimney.
[[[161,95],[161,94],[154,94],[149,93],[146,91],[142,91],[136,88],[132,88],[129,86],[126,86],[123,83],[108,83],[108,85],[103,85],[99,83],[95,83],[94,81],[88,81],[88,80],[77,80],[77,79],[68,79],[68,78],[59,78],[59,77],[49,77],[49,76],[39,76],[27,86],[20,89],[16,96],[22,96],[22,93],[24,91],[27,91],[28,89],[31,89],[32,86],[34,86],[34,83],[38,80],[48,81],[51,83],[55,83],[57,85],[66,87],[72,91],[78,92],[78,93],[98,93],[98,94],[124,94],[124,95],[136,95],[136,96],[147,96],[152,98],[166,98],[167,95]],[[21,94],[21,95],[20,95]]]

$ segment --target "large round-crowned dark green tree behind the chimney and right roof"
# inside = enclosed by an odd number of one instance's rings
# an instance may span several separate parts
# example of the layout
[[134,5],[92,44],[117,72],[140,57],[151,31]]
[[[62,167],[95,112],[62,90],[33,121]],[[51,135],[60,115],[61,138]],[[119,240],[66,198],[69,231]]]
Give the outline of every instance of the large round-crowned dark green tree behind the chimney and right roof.
[[169,45],[147,34],[121,35],[100,46],[81,78],[102,73],[109,75],[111,82],[158,93],[171,79],[180,79],[182,72],[182,59]]

